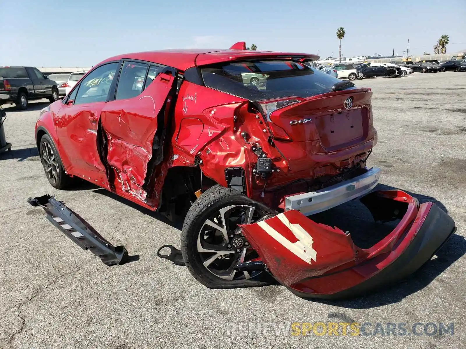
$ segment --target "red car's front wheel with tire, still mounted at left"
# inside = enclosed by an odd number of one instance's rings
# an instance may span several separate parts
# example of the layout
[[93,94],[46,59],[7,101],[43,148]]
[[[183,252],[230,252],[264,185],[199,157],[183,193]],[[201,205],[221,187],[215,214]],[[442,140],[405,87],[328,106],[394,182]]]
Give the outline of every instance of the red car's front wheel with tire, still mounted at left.
[[70,188],[73,178],[65,173],[60,154],[58,154],[57,148],[48,134],[44,134],[41,138],[39,155],[50,185],[57,189]]

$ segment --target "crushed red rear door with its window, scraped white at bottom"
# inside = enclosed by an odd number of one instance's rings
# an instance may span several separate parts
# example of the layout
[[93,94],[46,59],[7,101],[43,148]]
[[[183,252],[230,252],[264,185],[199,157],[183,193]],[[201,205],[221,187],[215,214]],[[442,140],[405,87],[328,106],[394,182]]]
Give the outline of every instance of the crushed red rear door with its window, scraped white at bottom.
[[[154,180],[164,156],[165,125],[176,92],[176,70],[153,63],[124,61],[115,94],[102,110],[103,157],[117,194],[156,208]],[[154,176],[157,176],[155,174]]]

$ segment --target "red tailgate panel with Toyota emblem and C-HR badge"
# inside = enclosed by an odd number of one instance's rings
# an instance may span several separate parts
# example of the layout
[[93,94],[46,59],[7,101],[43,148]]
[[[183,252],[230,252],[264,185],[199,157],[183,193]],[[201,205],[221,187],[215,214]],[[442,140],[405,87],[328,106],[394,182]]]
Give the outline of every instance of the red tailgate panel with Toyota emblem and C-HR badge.
[[372,144],[366,140],[373,139],[371,95],[367,88],[330,92],[272,112],[268,124],[290,170],[309,168],[309,161],[343,161],[368,151]]

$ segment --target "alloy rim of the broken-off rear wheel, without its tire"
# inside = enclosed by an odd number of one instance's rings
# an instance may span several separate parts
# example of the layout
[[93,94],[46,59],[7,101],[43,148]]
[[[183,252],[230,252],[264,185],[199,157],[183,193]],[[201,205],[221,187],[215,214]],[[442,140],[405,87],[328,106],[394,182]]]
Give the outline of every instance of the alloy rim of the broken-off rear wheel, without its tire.
[[248,205],[232,205],[217,210],[199,230],[197,251],[204,267],[224,280],[244,280],[259,275],[260,271],[238,271],[238,263],[258,255],[241,233],[239,224],[259,221],[265,213]]

